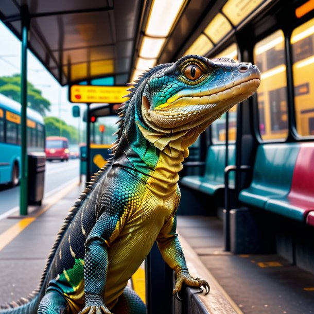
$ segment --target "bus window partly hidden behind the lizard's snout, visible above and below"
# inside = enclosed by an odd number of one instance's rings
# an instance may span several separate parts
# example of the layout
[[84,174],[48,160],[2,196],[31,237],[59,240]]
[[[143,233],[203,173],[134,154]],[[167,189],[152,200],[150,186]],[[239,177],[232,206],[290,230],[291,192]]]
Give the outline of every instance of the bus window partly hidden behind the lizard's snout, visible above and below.
[[[236,43],[230,45],[228,48],[221,51],[220,54],[214,58],[231,58],[238,62],[238,46]],[[235,143],[237,133],[237,106],[233,106],[229,110],[229,131],[228,139],[229,143]],[[212,142],[214,144],[225,142],[225,114],[220,119],[215,120],[212,124]]]

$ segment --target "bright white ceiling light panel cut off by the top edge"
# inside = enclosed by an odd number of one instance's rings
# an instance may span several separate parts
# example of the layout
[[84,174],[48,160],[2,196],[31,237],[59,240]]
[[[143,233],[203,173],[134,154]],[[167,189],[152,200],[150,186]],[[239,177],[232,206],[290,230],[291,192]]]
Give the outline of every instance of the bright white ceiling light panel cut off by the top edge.
[[145,34],[152,37],[167,37],[185,0],[154,0]]

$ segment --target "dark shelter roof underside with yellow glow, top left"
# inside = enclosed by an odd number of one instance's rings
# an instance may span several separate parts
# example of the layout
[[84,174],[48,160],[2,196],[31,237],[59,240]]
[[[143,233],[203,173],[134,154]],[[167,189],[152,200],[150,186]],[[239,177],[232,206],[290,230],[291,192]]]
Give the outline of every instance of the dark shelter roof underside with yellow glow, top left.
[[145,0],[1,0],[0,18],[21,39],[21,6],[30,15],[29,48],[62,84],[132,71]]

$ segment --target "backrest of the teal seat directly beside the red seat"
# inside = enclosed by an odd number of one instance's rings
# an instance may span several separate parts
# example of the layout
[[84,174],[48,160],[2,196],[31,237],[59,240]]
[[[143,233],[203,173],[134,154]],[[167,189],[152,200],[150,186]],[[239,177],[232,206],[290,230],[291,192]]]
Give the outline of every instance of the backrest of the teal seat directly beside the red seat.
[[252,187],[270,194],[288,194],[300,144],[263,144],[256,152]]

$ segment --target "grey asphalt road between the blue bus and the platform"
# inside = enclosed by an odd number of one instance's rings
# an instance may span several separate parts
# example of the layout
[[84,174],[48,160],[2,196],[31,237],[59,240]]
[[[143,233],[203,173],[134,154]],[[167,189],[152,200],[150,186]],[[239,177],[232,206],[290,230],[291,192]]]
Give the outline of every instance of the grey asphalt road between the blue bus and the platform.
[[[68,162],[47,162],[45,171],[44,195],[48,197],[62,188],[66,182],[79,180],[79,160],[70,159]],[[12,212],[12,209],[19,206],[20,186],[8,188],[0,186],[0,219],[2,216]]]

